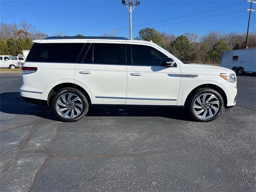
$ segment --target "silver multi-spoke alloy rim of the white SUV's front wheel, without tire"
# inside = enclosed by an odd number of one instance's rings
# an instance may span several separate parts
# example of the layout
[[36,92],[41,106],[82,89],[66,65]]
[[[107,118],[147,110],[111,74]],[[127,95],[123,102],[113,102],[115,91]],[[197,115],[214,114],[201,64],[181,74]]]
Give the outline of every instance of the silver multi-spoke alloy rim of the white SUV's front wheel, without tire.
[[215,116],[220,109],[218,98],[211,93],[199,95],[193,103],[195,115],[201,119],[209,119]]

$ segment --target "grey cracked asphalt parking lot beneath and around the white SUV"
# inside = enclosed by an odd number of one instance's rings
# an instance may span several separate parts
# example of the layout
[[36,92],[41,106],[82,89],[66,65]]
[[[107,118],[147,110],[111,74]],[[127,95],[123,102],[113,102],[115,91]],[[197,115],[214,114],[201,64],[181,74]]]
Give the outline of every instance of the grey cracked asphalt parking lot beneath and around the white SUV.
[[238,76],[237,106],[217,120],[184,110],[94,108],[58,122],[0,74],[0,191],[255,191],[256,77]]

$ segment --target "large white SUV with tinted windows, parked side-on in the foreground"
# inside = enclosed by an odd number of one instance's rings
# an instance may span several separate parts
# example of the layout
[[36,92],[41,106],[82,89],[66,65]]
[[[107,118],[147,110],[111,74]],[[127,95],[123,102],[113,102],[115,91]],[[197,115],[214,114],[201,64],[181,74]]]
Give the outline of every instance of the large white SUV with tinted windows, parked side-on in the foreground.
[[236,74],[218,66],[185,64],[148,41],[107,37],[34,40],[22,67],[20,94],[52,105],[76,121],[91,105],[186,107],[198,121],[236,104]]

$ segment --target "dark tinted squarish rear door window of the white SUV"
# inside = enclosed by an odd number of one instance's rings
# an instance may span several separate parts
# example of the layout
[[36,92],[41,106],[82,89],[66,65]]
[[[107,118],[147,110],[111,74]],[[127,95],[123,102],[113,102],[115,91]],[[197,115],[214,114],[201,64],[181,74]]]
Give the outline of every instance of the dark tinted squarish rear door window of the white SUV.
[[93,63],[121,64],[121,44],[94,43]]

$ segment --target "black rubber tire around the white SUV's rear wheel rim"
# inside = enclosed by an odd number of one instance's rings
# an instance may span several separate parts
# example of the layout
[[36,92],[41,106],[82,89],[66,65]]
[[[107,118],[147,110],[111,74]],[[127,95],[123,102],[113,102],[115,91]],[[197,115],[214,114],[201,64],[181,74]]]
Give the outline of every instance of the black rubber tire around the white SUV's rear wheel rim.
[[[57,109],[57,100],[58,98],[60,98],[61,95],[63,94],[75,94],[76,96],[78,96],[81,100],[81,103],[82,103],[82,110],[81,113],[77,116],[75,116],[74,118],[70,118],[70,117],[67,117],[67,118],[64,118],[63,116],[61,116],[58,112],[58,109]],[[71,99],[70,99],[71,100]],[[80,101],[79,100],[79,101]],[[63,102],[64,103],[64,102]],[[75,105],[75,104],[74,104]],[[73,107],[74,107],[73,105]],[[65,107],[64,107],[65,108]],[[69,108],[70,109],[70,108]],[[74,108],[73,108],[74,109]],[[81,109],[81,108],[79,108]],[[75,121],[78,121],[80,120],[82,117],[84,117],[87,112],[88,112],[88,109],[89,109],[89,103],[88,103],[88,100],[87,98],[84,96],[84,94],[82,92],[80,92],[79,90],[77,89],[74,89],[74,88],[64,88],[62,90],[59,90],[53,97],[52,99],[52,111],[54,112],[54,114],[56,115],[56,117],[58,119],[60,119],[61,121],[63,122],[75,122]],[[68,110],[66,110],[67,112]],[[70,115],[72,116],[72,115]]]

